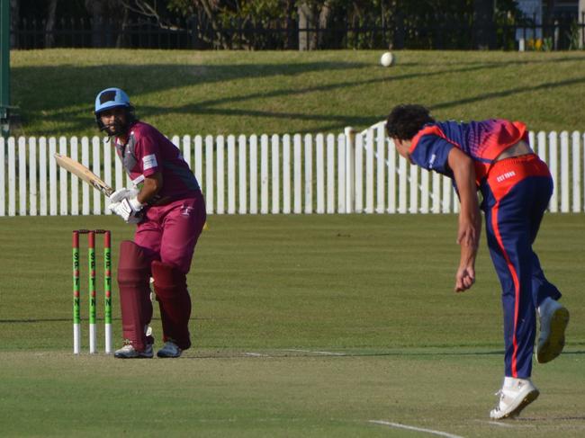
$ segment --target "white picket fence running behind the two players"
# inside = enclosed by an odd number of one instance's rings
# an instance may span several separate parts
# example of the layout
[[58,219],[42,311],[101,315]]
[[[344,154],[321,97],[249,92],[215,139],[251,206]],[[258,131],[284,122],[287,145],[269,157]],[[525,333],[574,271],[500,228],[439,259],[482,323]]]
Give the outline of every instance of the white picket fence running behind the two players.
[[[450,213],[451,181],[410,165],[384,136],[383,122],[334,135],[174,136],[202,185],[210,214]],[[551,168],[552,212],[583,211],[580,132],[530,132]],[[118,189],[130,184],[103,138],[0,139],[0,217],[110,214],[103,195],[58,168],[71,156]]]

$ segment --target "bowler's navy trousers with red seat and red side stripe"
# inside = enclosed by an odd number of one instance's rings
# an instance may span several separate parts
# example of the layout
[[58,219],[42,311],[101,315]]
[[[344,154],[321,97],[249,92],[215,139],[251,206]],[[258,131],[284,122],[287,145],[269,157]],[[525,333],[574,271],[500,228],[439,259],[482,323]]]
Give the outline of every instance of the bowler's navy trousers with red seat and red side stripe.
[[546,297],[561,297],[532,249],[553,180],[538,156],[520,156],[495,163],[481,191],[491,260],[502,289],[504,372],[526,379],[532,372],[536,308]]

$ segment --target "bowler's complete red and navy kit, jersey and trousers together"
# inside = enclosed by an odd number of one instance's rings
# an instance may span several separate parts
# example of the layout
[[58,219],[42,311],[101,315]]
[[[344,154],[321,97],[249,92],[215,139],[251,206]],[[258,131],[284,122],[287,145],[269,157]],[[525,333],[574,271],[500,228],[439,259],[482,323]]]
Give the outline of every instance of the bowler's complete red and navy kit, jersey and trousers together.
[[[505,375],[528,379],[536,335],[535,308],[561,293],[548,282],[532,244],[553,193],[553,179],[536,154],[498,156],[519,141],[528,143],[519,121],[433,122],[412,139],[410,159],[454,179],[448,156],[454,147],[470,156],[482,192],[487,242],[502,288]],[[510,154],[511,155],[511,154]],[[454,179],[455,183],[455,179]]]

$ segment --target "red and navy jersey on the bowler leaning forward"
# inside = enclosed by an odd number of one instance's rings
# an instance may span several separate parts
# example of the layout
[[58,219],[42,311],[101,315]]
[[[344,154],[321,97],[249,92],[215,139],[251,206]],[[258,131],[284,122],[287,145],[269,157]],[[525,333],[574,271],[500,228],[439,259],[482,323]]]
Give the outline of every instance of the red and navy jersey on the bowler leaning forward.
[[502,151],[520,140],[528,142],[527,127],[520,121],[441,121],[419,130],[412,139],[409,152],[416,165],[453,178],[447,158],[451,148],[458,147],[473,159],[479,186]]

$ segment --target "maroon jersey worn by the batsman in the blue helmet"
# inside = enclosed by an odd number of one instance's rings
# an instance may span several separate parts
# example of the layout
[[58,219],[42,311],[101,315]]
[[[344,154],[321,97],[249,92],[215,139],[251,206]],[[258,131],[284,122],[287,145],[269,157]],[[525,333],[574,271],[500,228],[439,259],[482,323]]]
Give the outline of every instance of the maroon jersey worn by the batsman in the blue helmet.
[[181,199],[199,191],[199,183],[179,148],[148,123],[135,122],[126,145],[116,139],[115,146],[134,185],[139,186],[152,174],[162,173],[163,187],[158,198]]

